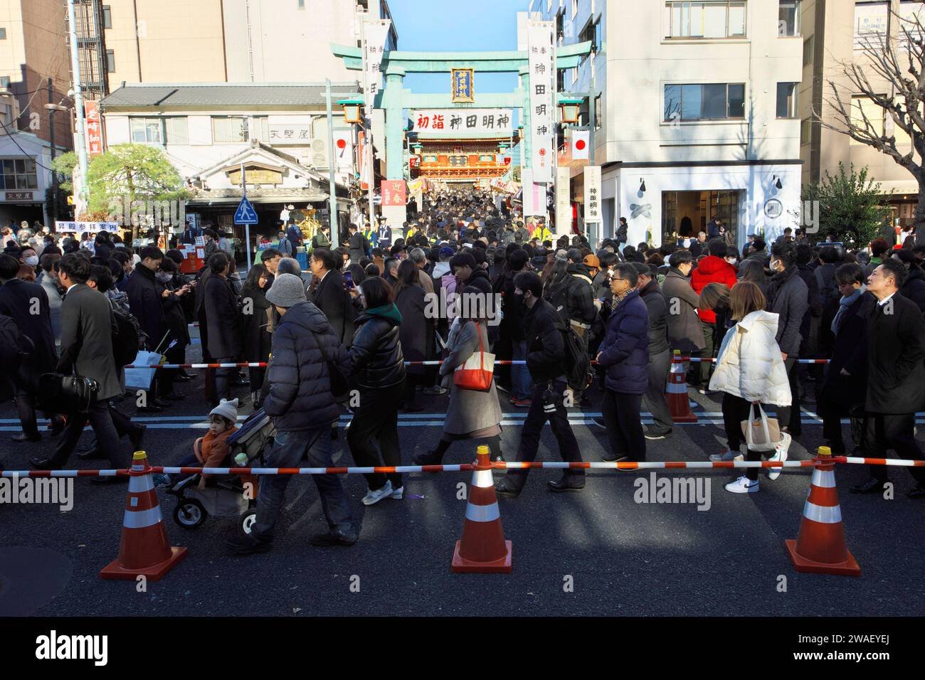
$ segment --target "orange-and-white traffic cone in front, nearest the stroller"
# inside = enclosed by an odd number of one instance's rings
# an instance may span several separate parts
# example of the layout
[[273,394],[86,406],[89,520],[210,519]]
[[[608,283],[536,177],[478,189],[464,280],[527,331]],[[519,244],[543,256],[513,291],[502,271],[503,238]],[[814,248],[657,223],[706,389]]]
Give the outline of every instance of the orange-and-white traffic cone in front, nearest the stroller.
[[100,578],[134,581],[144,575],[157,581],[184,557],[186,548],[171,548],[167,540],[148,456],[135,451],[122,518],[122,543],[118,557],[103,568]]

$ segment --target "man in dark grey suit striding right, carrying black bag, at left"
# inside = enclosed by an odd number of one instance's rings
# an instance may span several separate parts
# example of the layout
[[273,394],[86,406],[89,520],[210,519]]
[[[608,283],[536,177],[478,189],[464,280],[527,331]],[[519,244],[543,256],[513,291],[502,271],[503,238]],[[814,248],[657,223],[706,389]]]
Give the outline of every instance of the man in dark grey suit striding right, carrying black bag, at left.
[[[68,417],[68,425],[51,458],[30,459],[38,470],[56,470],[66,464],[88,421],[100,451],[109,456],[110,465],[114,468],[129,465],[128,456],[119,451],[116,427],[108,408],[109,400],[122,392],[112,343],[117,331],[116,318],[105,295],[86,285],[90,266],[90,260],[78,253],[68,253],[58,265],[58,279],[67,292],[61,304],[61,359],[56,370],[65,375],[75,372],[81,377],[92,377],[99,384],[99,391],[89,413]],[[114,484],[127,482],[129,477],[93,477],[91,481]]]

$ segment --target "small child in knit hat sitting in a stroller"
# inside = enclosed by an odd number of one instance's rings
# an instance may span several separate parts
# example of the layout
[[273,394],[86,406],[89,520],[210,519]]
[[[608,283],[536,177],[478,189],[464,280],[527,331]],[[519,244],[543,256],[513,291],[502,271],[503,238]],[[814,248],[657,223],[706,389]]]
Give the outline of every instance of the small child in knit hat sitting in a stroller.
[[[209,414],[209,433],[193,444],[191,455],[179,462],[180,467],[250,467],[259,464],[265,445],[275,434],[264,412],[252,414],[240,429],[238,400],[221,403]],[[246,475],[184,475],[174,480],[166,478],[167,493],[176,496],[174,520],[178,525],[194,529],[203,524],[209,514],[239,518],[240,528],[247,532],[253,525],[257,481]]]

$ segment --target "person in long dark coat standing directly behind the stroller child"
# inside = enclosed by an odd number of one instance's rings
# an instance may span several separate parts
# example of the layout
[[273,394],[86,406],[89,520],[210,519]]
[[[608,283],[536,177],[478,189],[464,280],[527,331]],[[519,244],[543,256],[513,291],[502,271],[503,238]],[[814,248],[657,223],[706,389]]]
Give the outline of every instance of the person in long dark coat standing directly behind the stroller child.
[[[216,364],[234,363],[241,351],[241,332],[238,315],[238,298],[228,284],[228,255],[213,253],[209,258],[209,278],[205,280],[203,291],[203,308],[208,329],[207,338],[209,354]],[[234,368],[216,370],[216,390],[212,405],[218,405],[222,399],[228,399],[228,382],[235,374]]]

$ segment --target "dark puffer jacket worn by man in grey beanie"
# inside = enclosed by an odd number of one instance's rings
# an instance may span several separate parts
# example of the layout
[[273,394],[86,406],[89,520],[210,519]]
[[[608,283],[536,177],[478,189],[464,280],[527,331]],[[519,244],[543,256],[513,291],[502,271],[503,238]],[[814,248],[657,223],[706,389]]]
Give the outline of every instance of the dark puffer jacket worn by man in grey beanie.
[[308,302],[291,306],[273,332],[266,374],[270,391],[264,409],[281,432],[327,426],[340,414],[315,337],[324,345],[327,359],[345,376],[350,374],[350,356],[321,310]]

